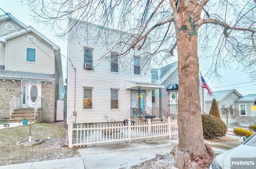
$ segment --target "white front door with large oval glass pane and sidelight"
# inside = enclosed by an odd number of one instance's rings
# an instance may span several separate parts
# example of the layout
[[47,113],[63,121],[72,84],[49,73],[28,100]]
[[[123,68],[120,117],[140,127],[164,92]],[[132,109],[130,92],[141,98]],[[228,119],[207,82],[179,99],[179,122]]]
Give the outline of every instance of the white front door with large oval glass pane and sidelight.
[[41,83],[22,82],[22,107],[35,107],[36,98],[41,97]]

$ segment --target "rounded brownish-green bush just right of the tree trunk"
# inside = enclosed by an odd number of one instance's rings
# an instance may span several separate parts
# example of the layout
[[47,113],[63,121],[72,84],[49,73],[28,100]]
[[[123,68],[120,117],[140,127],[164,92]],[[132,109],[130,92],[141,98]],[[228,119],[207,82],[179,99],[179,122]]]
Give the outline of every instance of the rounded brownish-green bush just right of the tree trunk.
[[205,139],[221,138],[226,135],[226,125],[216,116],[202,114],[202,125]]

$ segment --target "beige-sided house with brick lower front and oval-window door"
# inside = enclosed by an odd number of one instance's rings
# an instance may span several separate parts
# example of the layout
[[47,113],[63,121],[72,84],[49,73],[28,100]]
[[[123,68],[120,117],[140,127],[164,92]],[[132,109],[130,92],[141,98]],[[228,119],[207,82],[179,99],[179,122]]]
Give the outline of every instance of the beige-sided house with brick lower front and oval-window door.
[[0,16],[0,118],[37,107],[39,121],[53,122],[61,85],[60,48],[11,14]]

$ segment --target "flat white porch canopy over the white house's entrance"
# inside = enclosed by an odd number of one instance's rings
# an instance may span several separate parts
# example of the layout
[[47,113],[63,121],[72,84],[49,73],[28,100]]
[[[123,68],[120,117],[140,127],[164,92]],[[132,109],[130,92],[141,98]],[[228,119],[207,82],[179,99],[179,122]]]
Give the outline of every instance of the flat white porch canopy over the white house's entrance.
[[155,90],[164,88],[163,85],[157,85],[155,83],[126,81],[127,90],[138,90],[138,87],[140,87],[140,90]]

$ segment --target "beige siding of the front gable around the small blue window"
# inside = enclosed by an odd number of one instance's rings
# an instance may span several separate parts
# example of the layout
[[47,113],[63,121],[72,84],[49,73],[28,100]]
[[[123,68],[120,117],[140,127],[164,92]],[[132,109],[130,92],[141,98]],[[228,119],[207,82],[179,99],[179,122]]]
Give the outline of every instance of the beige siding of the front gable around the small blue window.
[[[7,42],[6,70],[38,73],[54,73],[54,52],[50,45],[36,37],[35,43],[29,43],[27,37],[22,35]],[[39,40],[40,39],[40,40]],[[36,63],[26,62],[26,47],[36,49]]]

